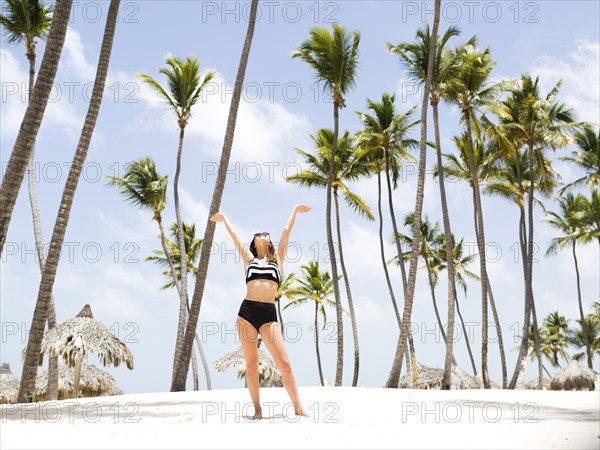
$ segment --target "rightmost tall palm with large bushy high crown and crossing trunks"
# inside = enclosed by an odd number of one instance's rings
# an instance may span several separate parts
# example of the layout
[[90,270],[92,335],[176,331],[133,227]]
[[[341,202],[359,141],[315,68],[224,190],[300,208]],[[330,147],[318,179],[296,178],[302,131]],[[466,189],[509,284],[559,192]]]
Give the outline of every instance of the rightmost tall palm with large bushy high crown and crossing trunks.
[[[544,153],[547,148],[556,150],[565,147],[573,142],[570,134],[584,125],[581,122],[575,122],[573,112],[565,104],[556,100],[562,80],[546,94],[541,94],[539,88],[539,77],[535,80],[529,75],[522,75],[517,86],[510,89],[510,96],[504,100],[495,110],[500,117],[500,124],[496,127],[488,127],[493,132],[493,137],[501,143],[502,148],[506,148],[514,154],[523,148],[527,155],[529,168],[532,173],[538,173],[540,183],[543,183],[548,175]],[[508,145],[506,144],[508,141]],[[518,162],[519,158],[516,158]],[[517,166],[519,169],[519,166]],[[519,173],[517,173],[519,175]],[[519,359],[510,387],[514,388],[518,373],[521,369],[521,363],[527,355],[527,333],[529,331],[530,314],[535,316],[535,302],[533,299],[533,206],[535,186],[538,183],[529,183],[528,196],[528,220],[525,225],[523,218],[520,232],[523,235],[522,253],[525,261],[525,320],[523,325],[523,338],[521,341],[521,350]],[[522,183],[519,183],[519,189],[525,191]],[[534,317],[534,331],[537,329]],[[539,337],[536,336],[536,346]],[[536,349],[538,354],[539,349]],[[538,386],[542,385],[541,358],[538,359]]]

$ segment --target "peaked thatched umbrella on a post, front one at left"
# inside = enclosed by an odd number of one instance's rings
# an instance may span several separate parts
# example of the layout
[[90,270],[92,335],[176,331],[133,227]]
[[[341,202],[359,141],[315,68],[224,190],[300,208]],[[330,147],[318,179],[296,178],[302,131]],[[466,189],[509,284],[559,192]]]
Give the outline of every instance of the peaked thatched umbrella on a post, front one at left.
[[81,365],[89,353],[96,353],[103,365],[115,367],[122,362],[133,369],[133,355],[111,331],[94,319],[90,305],[85,305],[73,319],[52,328],[42,339],[40,364],[44,353],[62,357],[75,367],[73,395],[79,397]]

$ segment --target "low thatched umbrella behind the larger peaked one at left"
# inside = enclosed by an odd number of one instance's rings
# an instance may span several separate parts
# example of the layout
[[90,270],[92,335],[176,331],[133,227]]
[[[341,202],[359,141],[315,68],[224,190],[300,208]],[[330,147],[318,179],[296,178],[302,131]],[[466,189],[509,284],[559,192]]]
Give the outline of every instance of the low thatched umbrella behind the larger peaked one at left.
[[[58,399],[71,398],[75,391],[75,371],[65,365],[58,367]],[[35,398],[38,401],[46,400],[48,388],[48,371],[39,374],[35,381]],[[81,379],[79,382],[80,397],[98,397],[102,395],[121,395],[123,391],[117,386],[113,376],[94,365],[81,365]]]

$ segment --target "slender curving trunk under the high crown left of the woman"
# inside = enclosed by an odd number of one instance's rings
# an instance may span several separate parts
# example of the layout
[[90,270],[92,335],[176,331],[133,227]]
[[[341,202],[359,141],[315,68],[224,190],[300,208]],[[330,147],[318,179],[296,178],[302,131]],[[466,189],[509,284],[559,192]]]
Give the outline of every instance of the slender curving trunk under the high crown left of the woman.
[[[185,123],[179,124],[179,146],[177,148],[177,167],[175,169],[175,180],[173,182],[173,196],[175,199],[175,216],[177,218],[177,240],[179,241],[179,267],[181,268],[181,290],[179,291],[179,319],[177,322],[177,338],[175,340],[175,353],[173,355],[172,377],[175,377],[175,367],[179,361],[179,353],[183,347],[183,337],[187,316],[187,251],[185,248],[185,237],[183,233],[183,220],[179,207],[179,174],[181,173],[181,153],[183,151],[183,137]],[[193,352],[192,352],[193,353]],[[171,380],[173,382],[173,380]]]

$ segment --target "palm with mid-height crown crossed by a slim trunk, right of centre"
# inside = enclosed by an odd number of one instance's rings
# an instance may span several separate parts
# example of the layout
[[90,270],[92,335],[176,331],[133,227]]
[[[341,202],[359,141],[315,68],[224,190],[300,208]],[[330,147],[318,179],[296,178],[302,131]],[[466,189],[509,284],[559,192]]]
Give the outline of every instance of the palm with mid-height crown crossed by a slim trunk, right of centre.
[[[475,192],[473,190],[473,182],[471,177],[471,155],[468,143],[468,136],[466,132],[463,132],[460,136],[454,136],[452,138],[458,153],[444,154],[446,163],[444,164],[444,170],[446,174],[454,177],[458,180],[463,180],[469,183],[471,191],[473,193],[473,222],[477,224],[477,216],[475,214]],[[479,180],[481,182],[489,181],[499,170],[497,161],[500,157],[500,152],[497,146],[492,142],[484,141],[481,133],[478,130],[474,130],[473,136],[473,151],[475,153],[475,169],[477,170]],[[434,171],[434,177],[437,176],[437,167]],[[481,211],[483,215],[483,210]],[[477,226],[475,226],[477,231]],[[487,266],[486,266],[487,268]],[[498,349],[500,352],[500,361],[502,365],[502,388],[506,389],[508,385],[507,370],[506,370],[506,353],[504,351],[504,338],[502,335],[502,327],[500,324],[500,318],[498,317],[498,310],[496,309],[496,302],[494,300],[494,294],[492,292],[492,283],[489,276],[488,281],[488,294],[490,299],[490,306],[492,308],[492,316],[496,324],[496,332],[498,335]]]

